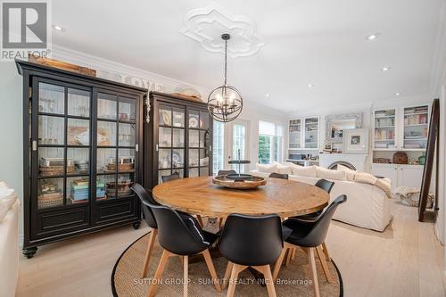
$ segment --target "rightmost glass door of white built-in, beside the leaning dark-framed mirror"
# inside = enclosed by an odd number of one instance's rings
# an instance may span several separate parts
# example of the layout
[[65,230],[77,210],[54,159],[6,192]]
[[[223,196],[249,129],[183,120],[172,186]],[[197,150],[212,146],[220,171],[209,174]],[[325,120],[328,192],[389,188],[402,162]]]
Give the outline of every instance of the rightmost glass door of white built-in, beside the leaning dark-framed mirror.
[[403,148],[425,149],[429,128],[427,105],[404,108]]

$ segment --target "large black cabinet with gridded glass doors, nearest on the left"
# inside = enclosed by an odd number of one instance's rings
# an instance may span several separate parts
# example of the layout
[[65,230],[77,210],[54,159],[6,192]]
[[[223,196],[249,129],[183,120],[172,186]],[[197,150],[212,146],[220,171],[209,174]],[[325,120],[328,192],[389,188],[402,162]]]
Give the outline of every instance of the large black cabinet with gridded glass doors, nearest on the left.
[[129,187],[143,175],[146,90],[16,62],[23,77],[24,243],[141,223]]

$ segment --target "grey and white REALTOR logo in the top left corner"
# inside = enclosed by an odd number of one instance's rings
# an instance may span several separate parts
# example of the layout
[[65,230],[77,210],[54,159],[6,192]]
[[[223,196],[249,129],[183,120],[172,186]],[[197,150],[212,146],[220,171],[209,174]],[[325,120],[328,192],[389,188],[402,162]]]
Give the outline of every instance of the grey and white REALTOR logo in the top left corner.
[[2,61],[47,57],[51,52],[49,3],[2,2]]

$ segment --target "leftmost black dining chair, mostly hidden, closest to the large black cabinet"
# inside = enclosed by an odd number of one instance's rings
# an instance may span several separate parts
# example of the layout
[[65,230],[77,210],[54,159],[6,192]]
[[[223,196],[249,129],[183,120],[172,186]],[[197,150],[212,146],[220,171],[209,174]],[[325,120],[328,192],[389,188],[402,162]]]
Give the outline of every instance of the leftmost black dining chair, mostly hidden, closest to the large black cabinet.
[[[147,275],[147,269],[149,268],[149,261],[153,251],[153,244],[156,240],[156,235],[158,234],[158,225],[156,224],[156,219],[153,216],[153,212],[150,208],[150,204],[160,205],[158,202],[155,202],[152,195],[145,191],[144,186],[139,184],[133,184],[131,187],[133,192],[138,196],[141,201],[142,209],[144,212],[145,222],[149,227],[152,228],[152,232],[150,234],[149,242],[147,244],[147,249],[145,251],[145,260],[143,265],[143,271],[141,272],[141,278],[144,278]],[[149,204],[150,203],[150,204]]]

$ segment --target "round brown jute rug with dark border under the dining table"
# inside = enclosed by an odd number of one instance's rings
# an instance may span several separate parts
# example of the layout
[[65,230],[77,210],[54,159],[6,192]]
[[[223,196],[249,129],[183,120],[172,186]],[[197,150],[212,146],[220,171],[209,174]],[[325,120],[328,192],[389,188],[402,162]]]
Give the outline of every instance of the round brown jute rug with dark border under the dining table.
[[[155,243],[153,248],[150,267],[146,278],[141,278],[141,270],[145,258],[149,234],[143,235],[134,243],[130,244],[124,251],[111,273],[111,290],[114,296],[136,297],[146,296],[149,291],[152,277],[156,271],[161,258],[162,248]],[[224,257],[213,258],[213,263],[219,277],[223,277],[227,267],[227,260]],[[335,276],[335,283],[329,284],[322,270],[318,258],[319,292],[321,296],[343,296],[343,279],[331,261],[329,268],[332,276]],[[183,296],[183,263],[177,258],[169,258],[166,268],[161,276],[161,283],[158,286],[156,296],[176,297]],[[282,266],[276,284],[278,297],[289,296],[313,296],[310,280],[310,265],[305,252],[300,249],[296,252],[296,257],[288,266]],[[189,263],[189,288],[188,296],[226,296],[227,289],[222,293],[215,290],[211,283],[211,275],[203,261]],[[260,285],[249,270],[244,270],[239,275],[239,280],[235,287],[235,296],[268,296],[267,288]]]

